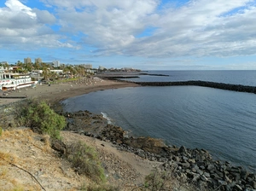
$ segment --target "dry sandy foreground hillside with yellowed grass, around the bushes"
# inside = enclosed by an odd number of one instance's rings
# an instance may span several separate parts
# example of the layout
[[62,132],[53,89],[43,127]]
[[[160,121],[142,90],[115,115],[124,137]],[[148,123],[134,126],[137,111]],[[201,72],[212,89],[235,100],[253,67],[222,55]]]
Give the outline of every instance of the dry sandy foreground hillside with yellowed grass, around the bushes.
[[[131,190],[142,183],[157,162],[119,151],[110,142],[102,142],[70,131],[62,131],[63,142],[85,142],[96,148],[108,182],[119,190]],[[0,136],[1,190],[81,190],[94,184],[78,175],[66,159],[50,148],[49,136],[27,128],[4,131]]]

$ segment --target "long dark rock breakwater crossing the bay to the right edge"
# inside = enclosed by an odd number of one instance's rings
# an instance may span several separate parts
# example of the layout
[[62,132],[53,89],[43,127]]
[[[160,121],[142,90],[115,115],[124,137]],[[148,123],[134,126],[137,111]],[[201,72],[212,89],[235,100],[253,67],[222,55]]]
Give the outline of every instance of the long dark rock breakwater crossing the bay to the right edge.
[[[128,82],[128,81],[127,81]],[[182,81],[182,82],[133,82],[142,86],[177,86],[177,85],[195,85],[209,88],[216,88],[221,90],[241,91],[256,94],[255,86],[241,85],[241,84],[224,84],[207,81]]]

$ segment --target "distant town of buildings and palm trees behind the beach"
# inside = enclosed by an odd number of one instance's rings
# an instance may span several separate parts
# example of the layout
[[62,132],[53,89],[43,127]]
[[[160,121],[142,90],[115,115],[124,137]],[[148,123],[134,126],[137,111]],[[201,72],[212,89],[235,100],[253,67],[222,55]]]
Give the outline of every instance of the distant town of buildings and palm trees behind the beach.
[[130,67],[106,68],[99,66],[95,68],[89,63],[61,64],[60,61],[42,61],[41,58],[36,58],[32,62],[32,59],[27,57],[24,58],[24,62],[17,61],[15,64],[9,64],[8,61],[0,62],[0,90],[18,90],[38,83],[90,77],[105,72],[140,72],[140,70]]

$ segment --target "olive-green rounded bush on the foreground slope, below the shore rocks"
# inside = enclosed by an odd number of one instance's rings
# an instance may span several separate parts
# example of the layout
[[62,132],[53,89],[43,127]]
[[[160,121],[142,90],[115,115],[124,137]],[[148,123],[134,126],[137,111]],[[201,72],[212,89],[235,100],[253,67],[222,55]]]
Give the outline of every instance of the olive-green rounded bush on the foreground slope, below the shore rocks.
[[67,146],[66,158],[79,174],[84,174],[95,182],[106,181],[104,170],[96,151],[83,142],[76,142]]

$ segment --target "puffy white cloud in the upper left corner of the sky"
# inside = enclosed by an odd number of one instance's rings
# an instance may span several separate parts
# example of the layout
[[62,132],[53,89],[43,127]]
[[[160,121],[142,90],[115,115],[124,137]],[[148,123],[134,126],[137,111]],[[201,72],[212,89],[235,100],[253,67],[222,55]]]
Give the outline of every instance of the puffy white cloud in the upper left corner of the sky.
[[7,49],[35,49],[37,47],[71,47],[61,43],[62,37],[47,25],[55,23],[55,16],[46,10],[31,9],[18,0],[7,0],[0,8],[0,47]]

